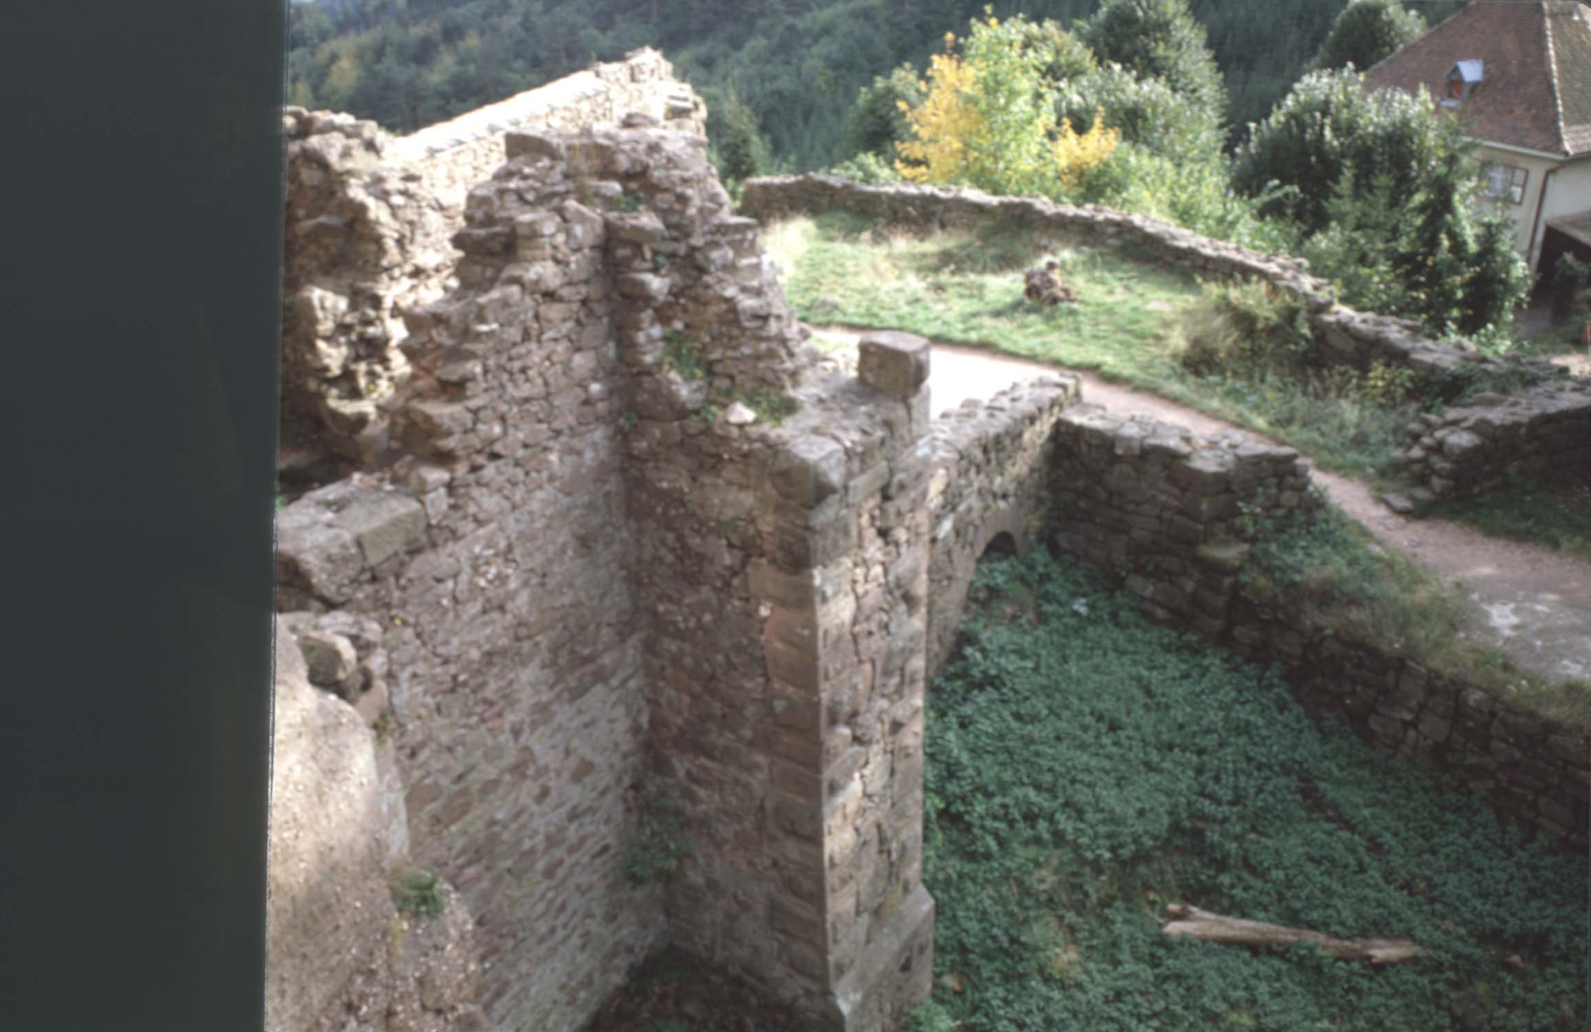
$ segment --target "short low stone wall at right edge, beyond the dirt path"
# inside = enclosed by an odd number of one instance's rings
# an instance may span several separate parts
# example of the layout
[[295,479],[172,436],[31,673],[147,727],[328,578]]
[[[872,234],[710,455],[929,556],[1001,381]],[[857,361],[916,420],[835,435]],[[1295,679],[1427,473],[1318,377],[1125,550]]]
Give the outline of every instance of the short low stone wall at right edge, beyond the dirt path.
[[1591,383],[1480,394],[1422,415],[1398,458],[1433,498],[1481,495],[1515,477],[1591,472]]

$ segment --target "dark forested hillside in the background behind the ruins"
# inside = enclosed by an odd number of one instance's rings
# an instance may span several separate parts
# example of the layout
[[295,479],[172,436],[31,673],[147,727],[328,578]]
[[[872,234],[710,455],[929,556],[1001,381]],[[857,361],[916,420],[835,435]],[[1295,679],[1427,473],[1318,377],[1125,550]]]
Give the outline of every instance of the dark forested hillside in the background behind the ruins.
[[[1303,73],[1346,0],[1192,0],[1241,135]],[[858,89],[924,68],[985,0],[318,0],[291,8],[293,103],[409,132],[636,46],[660,48],[719,114],[738,97],[792,170],[846,157]],[[1098,0],[991,5],[1063,25]],[[1427,22],[1462,0],[1410,3]]]

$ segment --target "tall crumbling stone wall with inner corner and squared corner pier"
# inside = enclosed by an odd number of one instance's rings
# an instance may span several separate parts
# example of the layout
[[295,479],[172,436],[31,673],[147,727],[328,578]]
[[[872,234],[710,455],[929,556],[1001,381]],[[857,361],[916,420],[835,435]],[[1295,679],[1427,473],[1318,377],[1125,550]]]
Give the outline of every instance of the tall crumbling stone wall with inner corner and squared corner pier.
[[[282,596],[387,627],[414,852],[477,914],[492,1027],[579,1026],[665,927],[894,1027],[932,943],[926,345],[802,366],[705,140],[625,122],[509,134],[458,289],[406,312],[404,458],[283,510]],[[624,876],[649,789],[695,844],[667,890]]]

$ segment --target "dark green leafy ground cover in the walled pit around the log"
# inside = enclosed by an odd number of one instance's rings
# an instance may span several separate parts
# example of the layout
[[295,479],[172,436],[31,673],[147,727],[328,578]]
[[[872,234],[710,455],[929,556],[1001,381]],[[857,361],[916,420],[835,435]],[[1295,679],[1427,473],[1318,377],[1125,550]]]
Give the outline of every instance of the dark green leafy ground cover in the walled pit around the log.
[[[1313,722],[1069,558],[988,558],[929,695],[915,1032],[1578,1030],[1586,862]],[[1413,938],[1383,968],[1173,940],[1168,903]]]

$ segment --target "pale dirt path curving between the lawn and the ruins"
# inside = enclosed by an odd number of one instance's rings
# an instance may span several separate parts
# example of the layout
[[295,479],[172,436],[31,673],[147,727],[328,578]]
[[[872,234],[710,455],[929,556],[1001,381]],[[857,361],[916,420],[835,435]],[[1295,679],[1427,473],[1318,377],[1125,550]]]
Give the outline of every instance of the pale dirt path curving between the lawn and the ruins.
[[[813,329],[853,347],[861,336],[845,328]],[[980,348],[936,343],[928,385],[934,412],[940,413],[1056,371],[1056,366]],[[1111,412],[1153,417],[1196,434],[1239,429],[1263,437],[1157,394],[1109,383],[1093,372],[1066,372],[1082,380],[1083,401]],[[1454,582],[1478,617],[1475,633],[1484,644],[1550,677],[1591,679],[1591,561],[1489,537],[1448,520],[1410,520],[1387,509],[1357,480],[1313,466],[1311,477],[1384,545]]]

